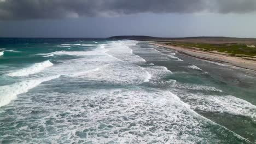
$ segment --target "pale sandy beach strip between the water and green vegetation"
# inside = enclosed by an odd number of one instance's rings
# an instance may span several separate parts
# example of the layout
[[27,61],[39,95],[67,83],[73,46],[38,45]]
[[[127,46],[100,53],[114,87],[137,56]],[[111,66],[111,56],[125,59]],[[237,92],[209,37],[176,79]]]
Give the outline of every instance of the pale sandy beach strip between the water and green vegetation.
[[242,59],[239,57],[226,56],[220,53],[211,53],[211,52],[205,52],[205,51],[195,50],[195,49],[191,50],[191,49],[186,49],[180,46],[170,46],[170,45],[161,44],[161,43],[153,43],[153,44],[156,46],[165,47],[166,49],[177,51],[187,56],[196,57],[199,59],[205,59],[208,61],[228,63],[236,67],[253,70],[254,72],[256,71],[256,61]]

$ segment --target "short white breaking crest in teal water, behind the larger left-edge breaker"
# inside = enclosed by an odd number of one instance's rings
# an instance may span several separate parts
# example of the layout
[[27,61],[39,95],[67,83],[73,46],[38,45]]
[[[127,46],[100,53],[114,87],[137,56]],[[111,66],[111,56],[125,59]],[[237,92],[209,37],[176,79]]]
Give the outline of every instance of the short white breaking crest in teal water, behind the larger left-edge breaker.
[[30,67],[15,70],[11,73],[5,74],[8,76],[27,76],[35,73],[39,73],[40,71],[44,70],[45,68],[53,66],[53,63],[51,63],[49,60],[44,61],[42,63],[35,63],[31,65]]

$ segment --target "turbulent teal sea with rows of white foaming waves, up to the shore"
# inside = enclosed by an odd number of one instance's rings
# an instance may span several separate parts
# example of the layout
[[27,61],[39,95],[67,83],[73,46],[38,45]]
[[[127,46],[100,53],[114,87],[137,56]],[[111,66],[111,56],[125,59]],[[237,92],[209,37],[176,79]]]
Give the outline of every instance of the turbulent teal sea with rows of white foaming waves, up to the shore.
[[254,71],[148,42],[0,39],[2,143],[255,143]]

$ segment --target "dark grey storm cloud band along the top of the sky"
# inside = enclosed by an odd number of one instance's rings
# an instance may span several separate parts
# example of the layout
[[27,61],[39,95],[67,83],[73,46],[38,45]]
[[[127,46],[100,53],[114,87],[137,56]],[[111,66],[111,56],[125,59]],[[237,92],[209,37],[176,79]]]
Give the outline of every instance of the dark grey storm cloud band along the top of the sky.
[[118,16],[136,13],[248,13],[255,0],[0,0],[0,19]]

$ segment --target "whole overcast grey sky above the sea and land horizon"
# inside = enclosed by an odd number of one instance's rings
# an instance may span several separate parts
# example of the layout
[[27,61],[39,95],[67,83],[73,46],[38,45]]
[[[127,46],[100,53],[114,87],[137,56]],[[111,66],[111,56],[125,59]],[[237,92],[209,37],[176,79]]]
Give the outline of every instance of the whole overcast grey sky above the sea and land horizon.
[[0,0],[0,37],[256,38],[256,0]]

